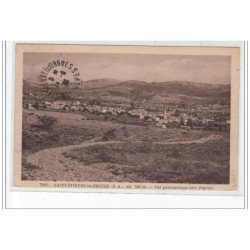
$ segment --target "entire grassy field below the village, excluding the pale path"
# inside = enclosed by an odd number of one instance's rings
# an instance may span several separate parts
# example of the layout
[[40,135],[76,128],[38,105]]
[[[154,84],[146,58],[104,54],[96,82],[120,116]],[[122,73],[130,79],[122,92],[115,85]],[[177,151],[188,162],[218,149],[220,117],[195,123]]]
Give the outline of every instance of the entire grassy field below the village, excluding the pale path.
[[[55,119],[43,126],[40,117]],[[136,120],[134,121],[136,122]],[[160,145],[153,142],[192,141],[211,134],[221,140],[205,143]],[[121,124],[89,113],[50,111],[23,113],[23,170],[34,167],[26,156],[39,150],[81,144],[85,141],[114,140],[120,144],[92,145],[69,150],[63,155],[93,169],[103,163],[105,171],[120,180],[155,183],[228,183],[229,133],[203,130],[162,129],[155,125]],[[62,156],[63,157],[63,156]],[[35,168],[36,171],[37,168]]]

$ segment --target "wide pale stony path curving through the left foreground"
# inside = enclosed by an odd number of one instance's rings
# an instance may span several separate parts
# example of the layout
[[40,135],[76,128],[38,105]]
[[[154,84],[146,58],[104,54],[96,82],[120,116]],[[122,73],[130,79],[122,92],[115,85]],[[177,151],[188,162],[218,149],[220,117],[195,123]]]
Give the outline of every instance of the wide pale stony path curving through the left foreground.
[[[80,163],[77,160],[64,157],[63,153],[76,148],[84,148],[92,145],[106,145],[114,143],[122,143],[122,142],[121,141],[102,142],[102,141],[90,140],[77,145],[43,149],[32,155],[27,156],[26,160],[27,163],[38,167],[37,169],[34,170],[34,173],[32,173],[32,179],[35,180],[98,181],[98,176],[100,179],[105,174],[103,173],[103,171],[101,171],[101,168],[99,168],[99,171],[97,171],[97,169],[93,169],[93,167],[90,166],[85,166],[83,163]],[[98,172],[100,173],[98,174]]]

